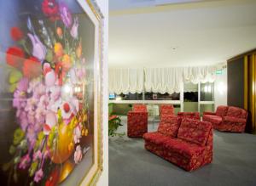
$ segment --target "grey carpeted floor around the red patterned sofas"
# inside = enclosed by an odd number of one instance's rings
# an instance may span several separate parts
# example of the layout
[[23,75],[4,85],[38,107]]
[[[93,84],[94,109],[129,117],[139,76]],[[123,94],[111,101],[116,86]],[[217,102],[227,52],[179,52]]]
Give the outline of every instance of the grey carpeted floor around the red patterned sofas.
[[[120,118],[123,126],[118,132],[127,132],[127,117]],[[155,132],[158,128],[158,124],[148,120],[148,132]],[[193,172],[186,172],[149,152],[144,147],[143,138],[109,138],[109,185],[255,185],[255,136],[214,130],[212,137],[212,163]]]

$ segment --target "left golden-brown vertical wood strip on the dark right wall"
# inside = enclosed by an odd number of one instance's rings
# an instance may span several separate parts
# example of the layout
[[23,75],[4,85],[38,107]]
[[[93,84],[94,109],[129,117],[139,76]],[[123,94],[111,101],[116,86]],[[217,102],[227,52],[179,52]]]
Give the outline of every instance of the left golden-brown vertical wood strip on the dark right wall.
[[243,76],[244,76],[244,87],[243,87],[243,108],[245,110],[248,110],[248,56],[246,55],[244,57],[244,72],[243,72]]

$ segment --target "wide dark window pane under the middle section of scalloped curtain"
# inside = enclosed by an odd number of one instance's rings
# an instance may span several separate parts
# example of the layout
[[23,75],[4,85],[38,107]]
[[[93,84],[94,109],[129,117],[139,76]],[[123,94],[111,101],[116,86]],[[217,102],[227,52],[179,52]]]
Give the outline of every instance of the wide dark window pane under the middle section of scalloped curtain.
[[145,100],[179,100],[180,93],[145,93]]

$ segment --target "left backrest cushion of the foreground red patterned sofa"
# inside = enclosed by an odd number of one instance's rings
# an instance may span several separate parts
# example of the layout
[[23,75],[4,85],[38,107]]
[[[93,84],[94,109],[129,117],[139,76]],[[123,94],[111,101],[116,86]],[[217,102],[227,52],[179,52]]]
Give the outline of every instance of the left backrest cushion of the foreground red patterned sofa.
[[160,119],[158,132],[170,136],[170,137],[177,137],[177,130],[180,126],[181,118],[177,116],[170,116],[170,115],[164,115]]

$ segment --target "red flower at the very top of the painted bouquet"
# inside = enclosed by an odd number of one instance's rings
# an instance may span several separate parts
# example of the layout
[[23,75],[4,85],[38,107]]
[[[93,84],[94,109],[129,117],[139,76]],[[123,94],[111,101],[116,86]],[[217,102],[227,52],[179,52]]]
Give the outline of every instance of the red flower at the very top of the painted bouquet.
[[49,17],[49,20],[55,21],[60,19],[59,6],[55,0],[44,0],[42,10],[44,14]]

